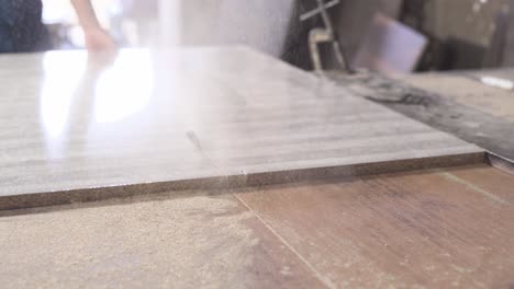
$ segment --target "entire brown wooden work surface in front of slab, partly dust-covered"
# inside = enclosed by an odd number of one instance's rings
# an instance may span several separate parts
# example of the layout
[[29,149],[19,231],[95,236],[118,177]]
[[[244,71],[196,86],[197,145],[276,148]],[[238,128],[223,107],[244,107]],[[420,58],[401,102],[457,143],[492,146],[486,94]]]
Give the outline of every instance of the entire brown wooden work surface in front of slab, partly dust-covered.
[[3,211],[2,288],[512,288],[480,165]]

